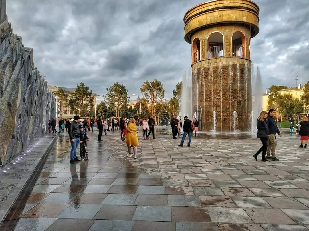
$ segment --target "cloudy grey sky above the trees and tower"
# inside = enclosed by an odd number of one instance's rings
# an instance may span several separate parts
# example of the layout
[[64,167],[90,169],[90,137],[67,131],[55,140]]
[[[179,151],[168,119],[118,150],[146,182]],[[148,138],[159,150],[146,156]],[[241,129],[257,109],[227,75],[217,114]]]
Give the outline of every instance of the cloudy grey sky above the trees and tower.
[[[184,13],[201,0],[8,0],[9,22],[33,47],[34,62],[49,85],[85,82],[103,95],[113,82],[131,99],[145,80],[159,79],[165,98],[188,71]],[[309,80],[308,0],[256,0],[260,33],[251,41],[263,89]]]

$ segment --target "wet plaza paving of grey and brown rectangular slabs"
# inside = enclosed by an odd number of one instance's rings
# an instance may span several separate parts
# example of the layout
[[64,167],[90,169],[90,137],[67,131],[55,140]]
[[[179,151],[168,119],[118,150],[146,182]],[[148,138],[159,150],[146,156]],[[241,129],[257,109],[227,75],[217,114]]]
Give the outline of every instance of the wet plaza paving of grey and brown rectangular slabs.
[[[125,157],[120,132],[70,162],[67,133],[51,150],[15,230],[309,230],[309,149],[278,138],[279,162],[255,161],[254,136],[200,135],[178,147],[170,127]],[[79,156],[79,151],[77,152]]]

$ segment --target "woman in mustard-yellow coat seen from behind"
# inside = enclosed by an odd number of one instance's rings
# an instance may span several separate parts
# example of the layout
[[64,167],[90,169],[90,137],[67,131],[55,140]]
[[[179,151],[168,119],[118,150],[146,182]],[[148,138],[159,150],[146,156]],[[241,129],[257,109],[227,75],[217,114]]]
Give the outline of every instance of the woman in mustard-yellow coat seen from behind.
[[130,123],[126,127],[127,134],[125,135],[125,143],[128,145],[128,157],[132,157],[131,155],[131,147],[133,147],[134,158],[136,159],[137,154],[137,146],[138,146],[138,138],[137,138],[137,126],[134,118],[130,118]]

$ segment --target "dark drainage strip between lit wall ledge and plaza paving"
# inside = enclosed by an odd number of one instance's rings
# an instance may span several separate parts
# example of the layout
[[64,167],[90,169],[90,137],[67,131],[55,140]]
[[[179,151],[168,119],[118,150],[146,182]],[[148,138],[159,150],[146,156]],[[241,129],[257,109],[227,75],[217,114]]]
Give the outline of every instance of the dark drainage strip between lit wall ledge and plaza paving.
[[14,203],[11,205],[11,208],[8,210],[6,216],[3,219],[2,224],[0,225],[0,230],[2,231],[9,231],[14,230],[19,218],[23,212],[23,209],[27,203],[27,200],[38,180],[44,164],[49,156],[51,149],[53,148],[58,136],[53,139],[47,150],[44,152],[42,158],[40,159],[39,163],[36,165],[36,168],[33,170],[31,175],[29,176],[26,184],[24,185],[23,189],[20,191],[19,195],[17,196]]

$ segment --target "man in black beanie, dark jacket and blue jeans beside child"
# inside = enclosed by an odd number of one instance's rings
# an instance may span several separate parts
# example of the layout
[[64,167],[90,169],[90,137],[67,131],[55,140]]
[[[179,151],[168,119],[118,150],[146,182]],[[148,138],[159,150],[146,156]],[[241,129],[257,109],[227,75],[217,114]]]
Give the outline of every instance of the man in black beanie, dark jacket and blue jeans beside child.
[[79,131],[79,116],[74,115],[74,120],[70,124],[69,128],[69,137],[70,137],[70,143],[71,143],[71,160],[70,164],[74,164],[74,161],[80,161],[77,156],[76,156],[76,148],[79,144],[79,136],[80,136],[80,131]]

